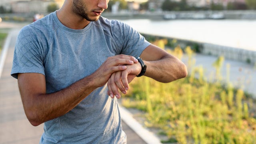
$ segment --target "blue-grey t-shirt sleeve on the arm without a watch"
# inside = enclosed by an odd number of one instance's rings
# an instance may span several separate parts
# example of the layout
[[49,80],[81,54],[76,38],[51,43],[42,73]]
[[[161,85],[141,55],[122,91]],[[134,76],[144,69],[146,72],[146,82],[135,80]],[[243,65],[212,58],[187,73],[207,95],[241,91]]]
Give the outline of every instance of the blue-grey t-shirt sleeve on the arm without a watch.
[[11,76],[18,78],[18,73],[44,74],[44,52],[38,39],[33,28],[22,28],[16,40]]

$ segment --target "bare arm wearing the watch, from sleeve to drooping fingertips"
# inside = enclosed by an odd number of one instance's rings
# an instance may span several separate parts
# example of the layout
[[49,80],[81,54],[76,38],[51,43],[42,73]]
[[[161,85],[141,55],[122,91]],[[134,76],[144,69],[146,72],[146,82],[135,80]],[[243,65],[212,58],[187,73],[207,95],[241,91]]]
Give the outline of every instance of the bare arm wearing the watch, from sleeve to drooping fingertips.
[[[145,76],[153,78],[159,82],[172,82],[187,76],[186,65],[178,58],[172,56],[161,48],[150,45],[140,55],[140,58],[147,65]],[[124,71],[112,74],[108,80],[108,94],[113,98],[120,98],[118,89],[126,94],[130,83],[141,71],[139,63],[127,66]]]

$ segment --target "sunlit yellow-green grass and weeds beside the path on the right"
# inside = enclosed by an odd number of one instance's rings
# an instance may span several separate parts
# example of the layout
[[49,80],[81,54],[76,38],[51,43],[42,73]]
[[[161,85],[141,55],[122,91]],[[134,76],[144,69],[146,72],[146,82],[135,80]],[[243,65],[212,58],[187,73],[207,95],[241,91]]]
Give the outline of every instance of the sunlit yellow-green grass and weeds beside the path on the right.
[[[193,54],[189,47],[185,51],[189,56]],[[172,54],[182,57],[179,47]],[[167,84],[148,77],[137,78],[130,83],[131,90],[123,96],[122,105],[144,111],[144,125],[159,128],[169,138],[166,142],[255,143],[255,100],[243,90],[221,82],[224,58],[214,62],[216,78],[212,82],[203,76],[202,67],[193,66],[191,57],[188,61],[191,73],[186,78]]]

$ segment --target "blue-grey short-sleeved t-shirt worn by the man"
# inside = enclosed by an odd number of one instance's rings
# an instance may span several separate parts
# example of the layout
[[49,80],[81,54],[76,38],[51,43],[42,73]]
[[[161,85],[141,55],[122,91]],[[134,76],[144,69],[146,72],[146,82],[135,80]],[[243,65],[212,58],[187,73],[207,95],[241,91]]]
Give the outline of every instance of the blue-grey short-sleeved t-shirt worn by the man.
[[[92,74],[106,58],[118,54],[140,56],[149,46],[130,26],[100,17],[82,30],[67,28],[56,12],[22,28],[14,52],[11,75],[40,73],[52,93]],[[104,85],[67,114],[44,123],[41,144],[126,143],[116,98]]]

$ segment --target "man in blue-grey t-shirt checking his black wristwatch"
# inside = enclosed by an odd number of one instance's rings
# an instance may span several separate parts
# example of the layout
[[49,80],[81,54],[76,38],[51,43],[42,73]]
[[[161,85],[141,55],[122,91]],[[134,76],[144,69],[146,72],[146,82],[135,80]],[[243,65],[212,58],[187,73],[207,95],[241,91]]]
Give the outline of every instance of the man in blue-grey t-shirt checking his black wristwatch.
[[136,76],[187,75],[130,26],[101,17],[107,7],[108,0],[65,0],[18,35],[11,75],[30,123],[44,123],[41,144],[125,144],[119,91],[126,94]]

